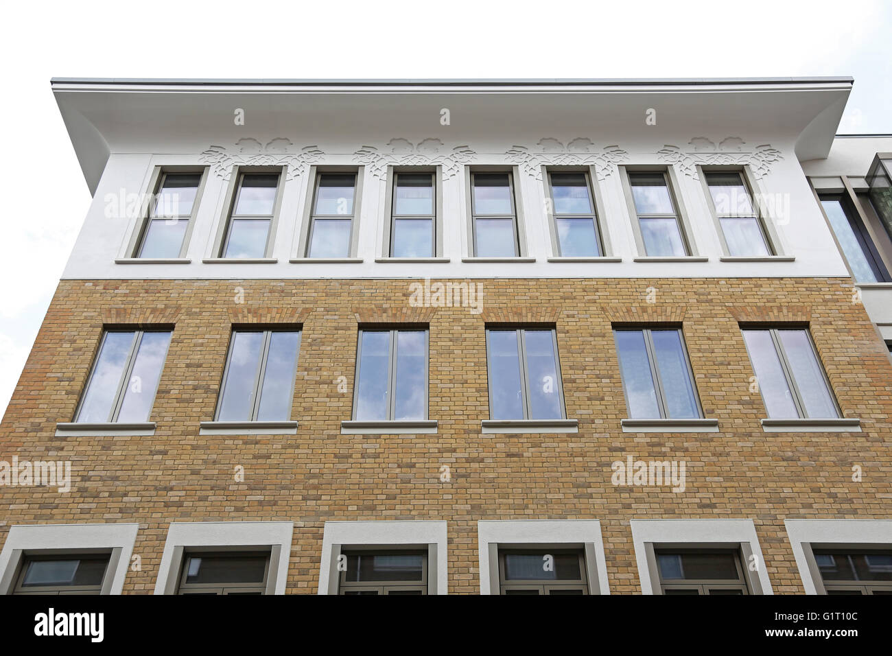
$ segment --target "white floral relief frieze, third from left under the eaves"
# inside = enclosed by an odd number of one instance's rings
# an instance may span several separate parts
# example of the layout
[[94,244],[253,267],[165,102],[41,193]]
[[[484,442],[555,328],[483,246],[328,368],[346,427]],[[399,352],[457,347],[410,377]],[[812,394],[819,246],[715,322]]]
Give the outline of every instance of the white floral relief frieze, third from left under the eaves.
[[576,137],[567,145],[558,139],[545,137],[536,143],[535,148],[515,145],[505,156],[515,162],[527,175],[542,179],[543,166],[594,166],[598,179],[606,179],[616,164],[625,162],[629,154],[618,145],[607,145],[600,150],[586,137]]

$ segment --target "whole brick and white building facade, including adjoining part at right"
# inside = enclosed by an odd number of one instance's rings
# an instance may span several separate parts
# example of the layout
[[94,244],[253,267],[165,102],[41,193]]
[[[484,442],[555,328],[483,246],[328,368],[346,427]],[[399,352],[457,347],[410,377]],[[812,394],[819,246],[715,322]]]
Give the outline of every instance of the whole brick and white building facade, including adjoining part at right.
[[54,80],[0,591],[892,594],[851,86]]

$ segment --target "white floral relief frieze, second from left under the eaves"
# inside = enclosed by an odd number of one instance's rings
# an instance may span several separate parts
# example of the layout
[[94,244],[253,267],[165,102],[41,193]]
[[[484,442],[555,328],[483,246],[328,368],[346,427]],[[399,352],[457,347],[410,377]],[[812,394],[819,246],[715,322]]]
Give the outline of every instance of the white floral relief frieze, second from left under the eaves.
[[476,153],[467,145],[446,149],[440,139],[426,138],[413,144],[409,139],[393,138],[381,150],[364,145],[354,153],[368,167],[370,175],[384,179],[388,166],[442,166],[443,178],[455,176],[464,164],[474,161]]

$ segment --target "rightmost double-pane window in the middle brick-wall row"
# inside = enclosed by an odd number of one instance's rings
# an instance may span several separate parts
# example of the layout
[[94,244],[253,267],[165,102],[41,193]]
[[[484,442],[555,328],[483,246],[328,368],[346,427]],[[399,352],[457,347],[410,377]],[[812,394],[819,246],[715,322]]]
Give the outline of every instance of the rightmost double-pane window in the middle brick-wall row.
[[743,338],[769,418],[839,417],[807,329],[745,328]]

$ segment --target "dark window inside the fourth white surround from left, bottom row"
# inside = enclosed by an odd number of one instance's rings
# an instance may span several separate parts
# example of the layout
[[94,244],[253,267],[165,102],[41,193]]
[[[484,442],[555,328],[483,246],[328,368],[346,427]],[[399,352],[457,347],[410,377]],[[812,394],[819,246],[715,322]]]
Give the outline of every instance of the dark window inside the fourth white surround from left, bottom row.
[[589,594],[585,552],[499,550],[500,594]]

